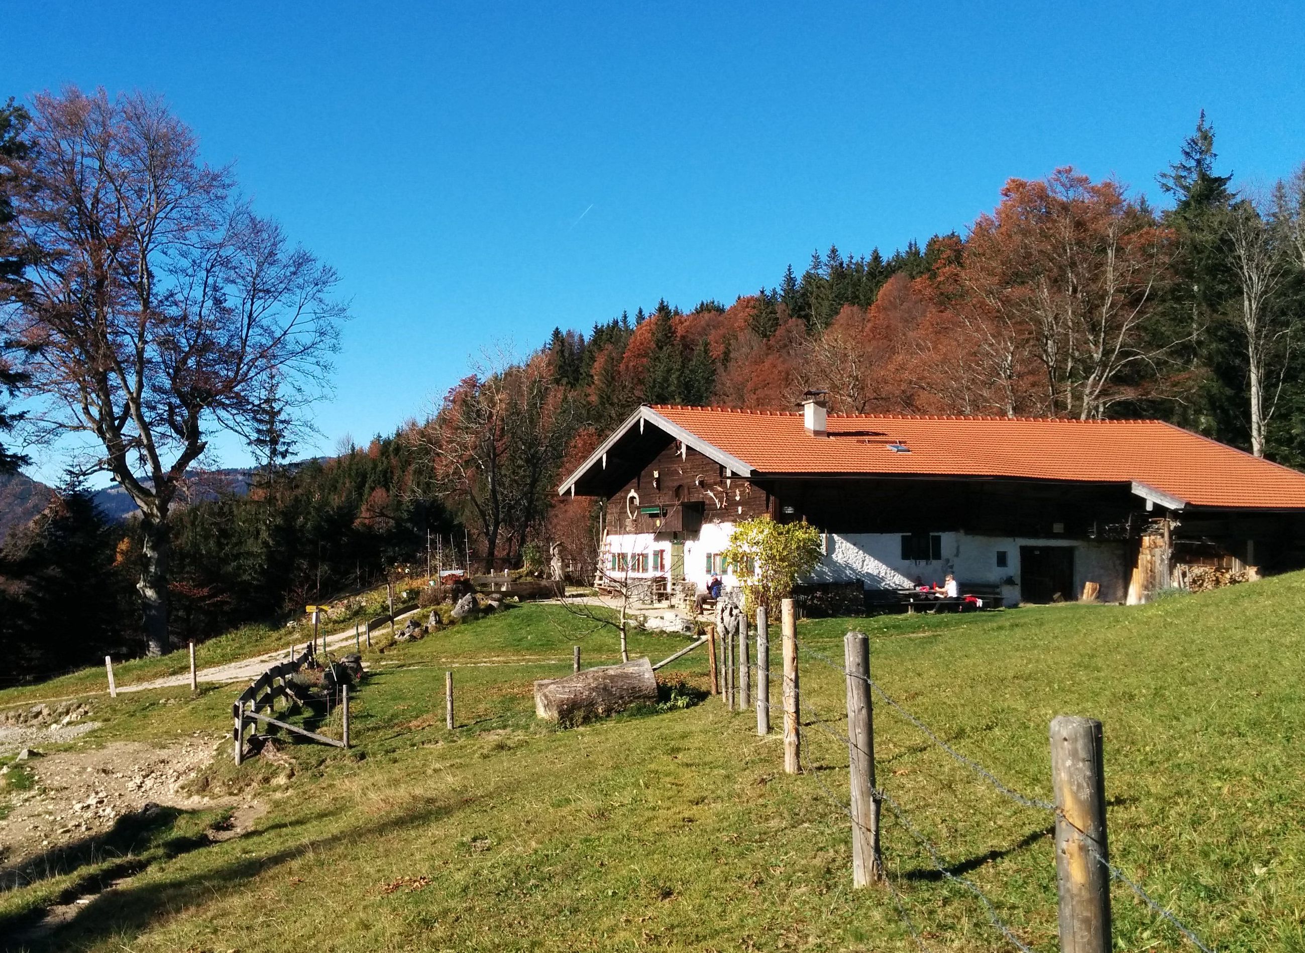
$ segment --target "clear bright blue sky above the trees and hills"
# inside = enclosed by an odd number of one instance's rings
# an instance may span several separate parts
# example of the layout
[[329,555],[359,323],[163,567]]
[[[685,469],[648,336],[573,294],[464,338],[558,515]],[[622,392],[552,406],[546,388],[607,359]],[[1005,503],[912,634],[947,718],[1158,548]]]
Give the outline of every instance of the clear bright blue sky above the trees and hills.
[[1305,161],[1291,4],[43,0],[0,29],[0,95],[163,94],[339,270],[355,317],[305,450],[392,432],[493,341],[890,252],[1010,176],[1159,200],[1201,108],[1238,179]]

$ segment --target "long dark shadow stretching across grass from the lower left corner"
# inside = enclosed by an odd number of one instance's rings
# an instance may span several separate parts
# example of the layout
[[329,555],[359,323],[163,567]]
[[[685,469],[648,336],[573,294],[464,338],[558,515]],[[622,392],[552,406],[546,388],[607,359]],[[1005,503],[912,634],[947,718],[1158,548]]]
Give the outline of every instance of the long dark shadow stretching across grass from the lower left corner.
[[[134,935],[146,930],[161,916],[170,916],[177,910],[193,907],[201,902],[221,898],[234,890],[244,889],[251,877],[269,868],[279,867],[305,854],[329,849],[337,843],[368,841],[416,825],[438,821],[479,802],[482,798],[483,795],[450,798],[446,803],[425,804],[395,817],[380,820],[360,828],[350,828],[348,830],[328,837],[307,838],[265,856],[240,856],[224,864],[214,864],[192,873],[171,877],[164,876],[144,884],[128,883],[95,897],[67,924],[47,936],[31,937],[25,943],[22,949],[30,953],[54,953],[55,950],[90,946],[107,936]],[[320,821],[325,816],[318,815],[298,821],[274,824],[251,832],[244,837],[235,838],[230,843],[239,843],[243,850],[248,850],[251,843],[258,838],[264,838],[278,830],[304,826]],[[209,841],[205,839],[204,843],[209,843]],[[202,843],[197,846],[202,846]],[[81,893],[85,893],[85,890]],[[13,935],[12,924],[0,922],[0,935]]]

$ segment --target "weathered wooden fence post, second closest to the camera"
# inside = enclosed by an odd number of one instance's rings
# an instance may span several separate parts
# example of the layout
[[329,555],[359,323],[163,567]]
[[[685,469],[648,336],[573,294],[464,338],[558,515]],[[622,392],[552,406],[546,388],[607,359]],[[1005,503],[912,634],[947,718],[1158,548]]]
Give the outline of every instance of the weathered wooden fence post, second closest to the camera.
[[880,800],[874,794],[874,708],[870,697],[870,640],[848,632],[843,640],[847,666],[847,756],[852,785],[852,886],[877,884]]

